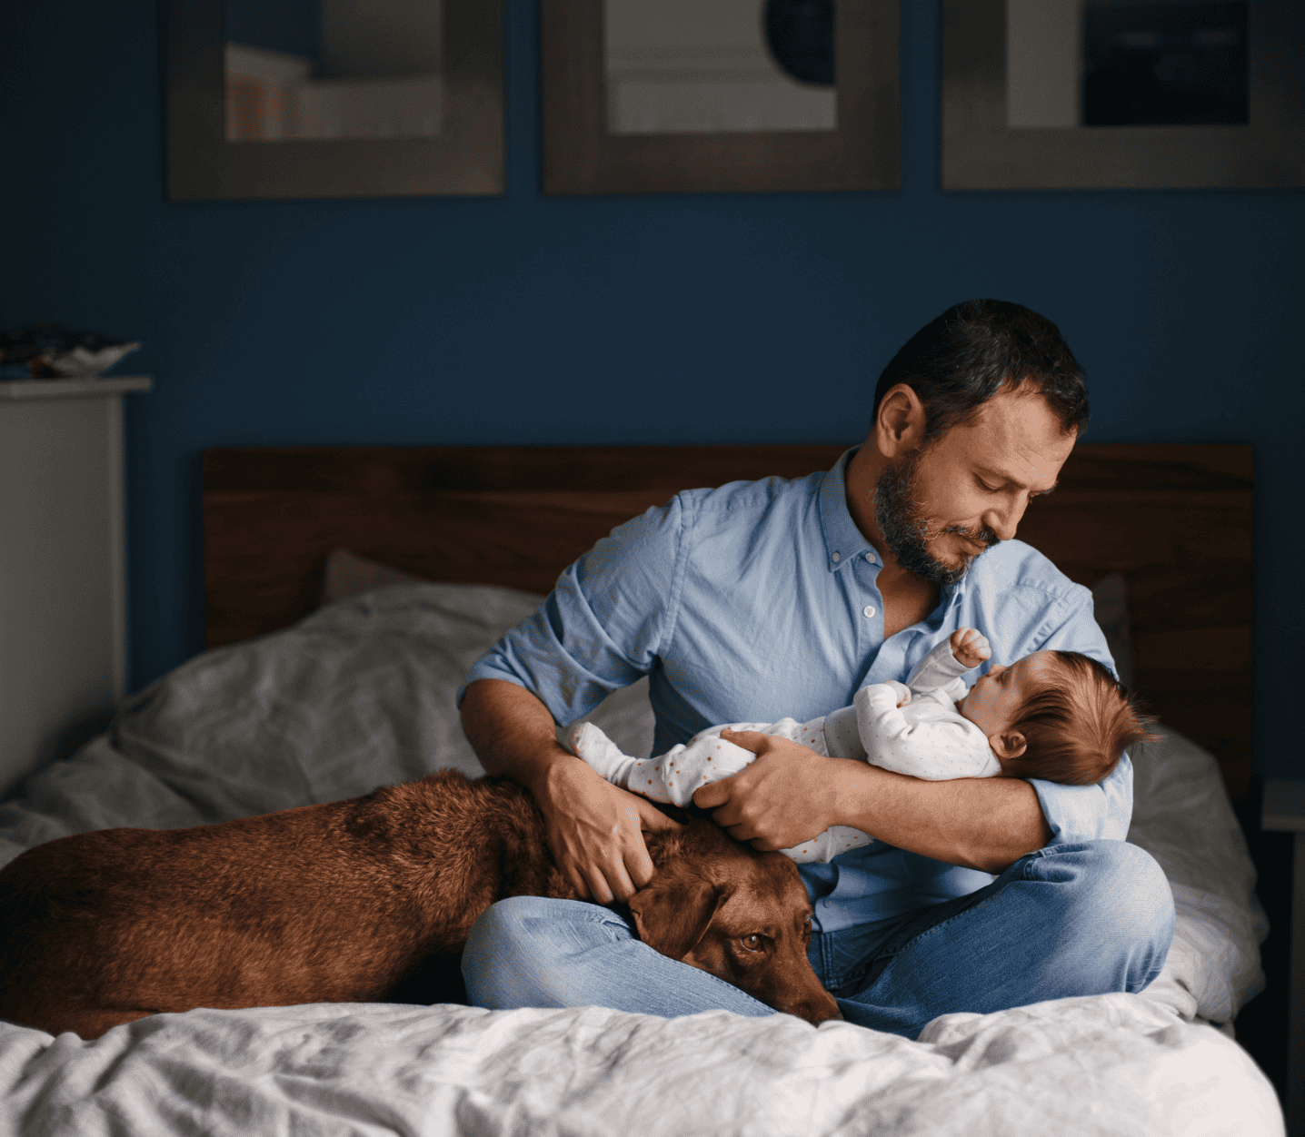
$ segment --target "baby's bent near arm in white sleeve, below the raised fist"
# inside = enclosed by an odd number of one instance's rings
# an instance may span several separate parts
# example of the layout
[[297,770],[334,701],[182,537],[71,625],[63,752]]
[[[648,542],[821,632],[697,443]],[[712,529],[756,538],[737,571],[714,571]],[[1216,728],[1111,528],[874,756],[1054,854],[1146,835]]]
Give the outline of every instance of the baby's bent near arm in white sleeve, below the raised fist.
[[911,721],[898,707],[900,683],[856,692],[856,726],[869,761],[928,781],[981,777],[1000,769],[988,741],[959,715]]

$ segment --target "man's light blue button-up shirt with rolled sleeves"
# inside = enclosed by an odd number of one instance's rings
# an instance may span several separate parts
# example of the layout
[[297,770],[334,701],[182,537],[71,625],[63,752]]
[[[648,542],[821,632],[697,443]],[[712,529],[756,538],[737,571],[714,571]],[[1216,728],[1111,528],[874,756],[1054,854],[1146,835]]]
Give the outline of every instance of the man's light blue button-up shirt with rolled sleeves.
[[[718,722],[827,715],[867,683],[904,681],[958,627],[988,636],[996,662],[1064,648],[1113,670],[1091,593],[1022,541],[976,558],[925,619],[885,640],[878,555],[847,510],[853,452],[827,473],[686,490],[619,525],[476,662],[463,690],[508,679],[565,726],[649,675],[660,754]],[[1032,785],[1053,844],[1128,833],[1128,756],[1099,785]],[[882,841],[801,868],[822,931],[992,880]]]

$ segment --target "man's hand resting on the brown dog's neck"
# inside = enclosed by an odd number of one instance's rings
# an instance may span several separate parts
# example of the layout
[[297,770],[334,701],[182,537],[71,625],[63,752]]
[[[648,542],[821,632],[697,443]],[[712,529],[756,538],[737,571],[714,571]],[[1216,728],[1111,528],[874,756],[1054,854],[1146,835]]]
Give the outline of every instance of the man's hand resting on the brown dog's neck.
[[643,833],[679,825],[651,802],[613,786],[579,759],[556,761],[535,789],[553,861],[581,896],[629,900],[652,879]]

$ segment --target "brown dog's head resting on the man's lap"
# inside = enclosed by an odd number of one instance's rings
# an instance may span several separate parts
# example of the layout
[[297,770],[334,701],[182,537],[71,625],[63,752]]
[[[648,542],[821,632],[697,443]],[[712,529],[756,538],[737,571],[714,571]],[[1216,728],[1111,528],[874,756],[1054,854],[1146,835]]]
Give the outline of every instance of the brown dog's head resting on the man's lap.
[[808,1022],[838,1017],[806,958],[812,906],[792,861],[705,820],[656,837],[649,838],[656,874],[629,902],[643,943],[775,1011]]

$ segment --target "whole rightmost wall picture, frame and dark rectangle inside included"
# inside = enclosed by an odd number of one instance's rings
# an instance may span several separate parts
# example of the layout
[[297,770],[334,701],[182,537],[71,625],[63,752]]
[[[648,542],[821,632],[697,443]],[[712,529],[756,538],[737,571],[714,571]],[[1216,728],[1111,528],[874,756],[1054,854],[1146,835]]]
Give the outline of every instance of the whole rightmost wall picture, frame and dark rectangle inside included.
[[945,0],[944,189],[1293,185],[1300,0]]

